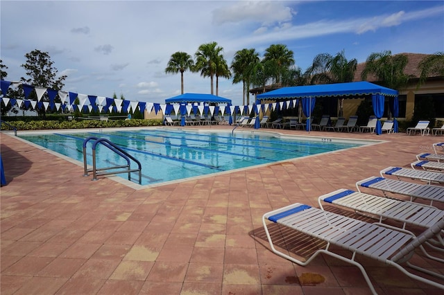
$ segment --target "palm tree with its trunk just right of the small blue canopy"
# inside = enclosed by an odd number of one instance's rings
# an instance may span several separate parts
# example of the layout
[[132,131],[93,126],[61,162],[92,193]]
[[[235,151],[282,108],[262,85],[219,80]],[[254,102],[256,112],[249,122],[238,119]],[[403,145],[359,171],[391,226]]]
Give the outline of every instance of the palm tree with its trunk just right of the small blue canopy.
[[259,64],[259,53],[255,48],[244,48],[237,51],[231,62],[231,69],[234,73],[233,84],[242,82],[242,102],[250,105],[250,84],[252,82],[255,66]]

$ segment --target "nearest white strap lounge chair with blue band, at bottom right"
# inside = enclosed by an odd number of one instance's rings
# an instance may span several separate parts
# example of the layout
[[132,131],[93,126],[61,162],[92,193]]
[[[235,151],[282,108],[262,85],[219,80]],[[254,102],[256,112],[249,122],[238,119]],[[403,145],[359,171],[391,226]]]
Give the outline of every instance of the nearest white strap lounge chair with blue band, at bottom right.
[[[311,238],[322,240],[326,243],[326,246],[323,249],[316,250],[311,256],[309,256],[309,258],[307,258],[307,260],[299,260],[295,257],[291,257],[289,254],[278,251],[275,248],[275,242],[273,242],[271,234],[268,231],[268,222],[275,222],[276,224],[287,226],[287,228],[296,233],[303,233]],[[437,283],[434,280],[413,274],[405,267],[407,266],[444,279],[442,274],[436,274],[433,271],[422,269],[411,263],[411,260],[414,261],[416,259],[416,252],[414,251],[416,248],[421,249],[423,253],[427,255],[422,244],[427,240],[434,238],[436,233],[439,233],[444,229],[444,219],[439,220],[432,227],[418,235],[418,237],[415,237],[400,229],[395,229],[392,226],[370,224],[296,203],[265,213],[262,216],[262,223],[273,253],[302,266],[308,265],[321,253],[348,262],[359,268],[373,294],[377,293],[366,270],[356,260],[357,254],[372,260],[383,262],[386,265],[391,265],[402,271],[403,274],[415,280],[419,280],[422,283],[427,283],[434,287],[444,289],[442,283]],[[278,237],[273,237],[277,238],[278,242],[284,239],[287,242],[287,240],[291,238],[291,236],[282,237],[282,231],[276,232],[276,235],[278,234]],[[274,232],[273,235],[275,235]],[[291,235],[291,233],[289,233],[289,235]],[[339,247],[341,251],[334,251],[330,245]],[[345,256],[343,250],[350,251],[350,258]]]

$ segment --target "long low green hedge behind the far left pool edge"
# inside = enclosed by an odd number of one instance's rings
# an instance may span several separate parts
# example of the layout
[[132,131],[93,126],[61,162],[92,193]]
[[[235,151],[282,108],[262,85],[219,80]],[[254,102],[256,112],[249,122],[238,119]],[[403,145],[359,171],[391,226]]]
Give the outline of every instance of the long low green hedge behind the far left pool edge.
[[[17,130],[45,130],[45,129],[87,129],[87,128],[110,128],[110,127],[146,127],[163,125],[161,119],[131,119],[131,120],[39,120],[39,121],[15,121],[10,125]],[[8,125],[1,124],[1,130],[12,130]]]

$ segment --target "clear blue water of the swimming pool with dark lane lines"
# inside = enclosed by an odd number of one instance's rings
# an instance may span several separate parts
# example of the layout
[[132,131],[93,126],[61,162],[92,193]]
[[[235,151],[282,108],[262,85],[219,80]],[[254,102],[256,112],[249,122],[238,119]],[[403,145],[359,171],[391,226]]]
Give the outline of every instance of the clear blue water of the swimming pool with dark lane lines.
[[[238,168],[332,152],[364,143],[326,138],[296,139],[264,132],[182,129],[125,129],[107,132],[22,134],[21,138],[83,163],[83,141],[90,136],[106,138],[142,163],[142,185],[185,179]],[[92,165],[92,143],[87,144],[87,163]],[[98,145],[97,167],[126,163]],[[83,174],[83,170],[79,169]],[[126,173],[117,176],[128,178]],[[132,177],[136,181],[138,175]]]

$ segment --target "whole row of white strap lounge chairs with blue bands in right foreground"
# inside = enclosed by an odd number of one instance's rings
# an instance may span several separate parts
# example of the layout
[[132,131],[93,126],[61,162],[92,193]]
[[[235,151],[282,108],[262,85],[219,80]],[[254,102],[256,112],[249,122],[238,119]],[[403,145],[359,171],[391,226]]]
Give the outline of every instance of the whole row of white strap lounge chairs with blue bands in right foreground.
[[[440,149],[444,152],[444,143],[435,143],[433,147],[435,152]],[[417,156],[418,160],[424,158],[430,161],[444,160],[444,153]],[[443,274],[413,264],[424,259],[423,257],[418,259],[416,249],[419,249],[426,258],[434,260],[435,263],[441,264],[441,268],[443,267],[444,211],[432,205],[434,202],[444,203],[444,167],[438,165],[444,163],[435,161],[433,167],[429,168],[425,168],[424,163],[420,166],[417,164],[411,163],[412,169],[385,168],[380,171],[379,177],[357,181],[357,190],[341,188],[321,195],[318,197],[320,208],[296,203],[265,213],[262,216],[262,223],[271,251],[302,266],[308,265],[319,254],[348,262],[359,268],[373,294],[377,292],[366,269],[357,261],[357,254],[391,265],[422,283],[444,289]],[[421,184],[420,181],[415,182],[411,179],[427,181],[428,184]],[[366,193],[362,192],[362,189],[370,191]],[[374,190],[382,192],[383,195],[374,195]],[[410,200],[405,201],[399,197],[400,195],[408,196]],[[417,202],[418,200],[428,201],[430,205]],[[364,222],[326,211],[324,204],[352,210],[377,221]],[[388,221],[393,222],[387,223]],[[271,222],[280,226],[272,227]],[[401,225],[393,226],[393,224]],[[419,235],[411,231],[418,231],[420,228],[422,233]],[[307,248],[307,243],[301,240],[301,234],[323,241],[325,247],[316,248],[306,260],[290,255],[286,248]],[[296,246],[291,244],[292,240],[296,242]],[[335,251],[331,246],[336,246],[336,249],[340,250]],[[434,251],[433,255],[426,247]],[[350,251],[351,256],[346,256],[345,250]],[[409,269],[414,269],[415,272]],[[421,275],[420,272],[427,276]],[[429,276],[434,276],[434,279]]]

